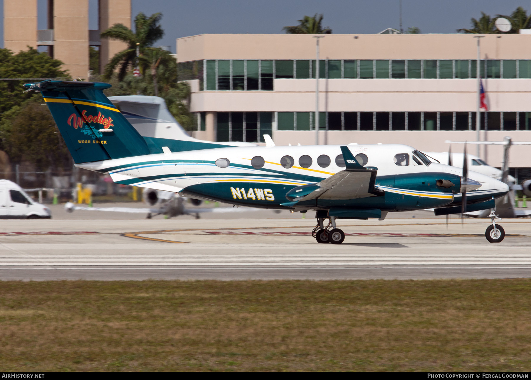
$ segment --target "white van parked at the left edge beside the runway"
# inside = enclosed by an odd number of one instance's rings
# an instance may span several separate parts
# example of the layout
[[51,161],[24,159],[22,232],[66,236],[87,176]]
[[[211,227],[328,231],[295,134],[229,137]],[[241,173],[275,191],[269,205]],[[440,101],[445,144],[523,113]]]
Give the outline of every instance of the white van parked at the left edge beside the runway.
[[45,205],[34,202],[22,188],[7,179],[0,179],[0,219],[50,219]]

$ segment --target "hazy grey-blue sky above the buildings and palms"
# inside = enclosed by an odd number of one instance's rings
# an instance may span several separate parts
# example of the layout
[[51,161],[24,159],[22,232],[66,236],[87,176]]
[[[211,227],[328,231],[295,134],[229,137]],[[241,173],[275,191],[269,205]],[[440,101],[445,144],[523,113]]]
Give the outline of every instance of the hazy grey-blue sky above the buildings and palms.
[[[0,42],[3,39],[3,2],[0,0]],[[45,13],[46,0],[38,0]],[[97,0],[89,0],[89,28],[97,29]],[[454,33],[468,28],[470,18],[486,14],[510,14],[517,6],[531,11],[531,4],[519,0],[402,0],[402,27],[417,27],[422,33]],[[157,45],[170,46],[175,39],[202,33],[282,33],[282,27],[296,25],[304,15],[322,13],[323,27],[333,33],[378,33],[399,28],[399,0],[132,0],[133,16],[139,12],[161,12],[165,36]],[[42,20],[41,20],[42,19]],[[45,17],[39,29],[46,29]]]

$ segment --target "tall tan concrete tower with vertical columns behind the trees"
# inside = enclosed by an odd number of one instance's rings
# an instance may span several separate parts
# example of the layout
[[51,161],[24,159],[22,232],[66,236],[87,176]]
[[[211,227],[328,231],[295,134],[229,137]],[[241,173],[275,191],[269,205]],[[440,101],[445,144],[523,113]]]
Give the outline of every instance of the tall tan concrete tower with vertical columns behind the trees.
[[4,47],[14,52],[48,46],[73,78],[89,76],[89,46],[100,49],[100,72],[126,46],[100,39],[115,23],[131,27],[131,0],[99,0],[97,30],[89,30],[89,0],[48,0],[47,29],[37,29],[37,0],[4,0]]

